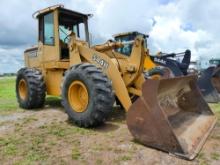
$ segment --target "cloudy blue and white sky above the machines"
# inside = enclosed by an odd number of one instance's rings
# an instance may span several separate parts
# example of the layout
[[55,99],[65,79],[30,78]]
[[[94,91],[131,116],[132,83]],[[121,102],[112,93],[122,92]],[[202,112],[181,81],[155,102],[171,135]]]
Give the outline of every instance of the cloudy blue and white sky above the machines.
[[32,13],[58,3],[94,15],[89,21],[93,43],[137,30],[150,35],[152,54],[191,49],[193,60],[220,57],[218,0],[1,0],[0,73],[16,72],[23,66],[23,51],[37,44]]

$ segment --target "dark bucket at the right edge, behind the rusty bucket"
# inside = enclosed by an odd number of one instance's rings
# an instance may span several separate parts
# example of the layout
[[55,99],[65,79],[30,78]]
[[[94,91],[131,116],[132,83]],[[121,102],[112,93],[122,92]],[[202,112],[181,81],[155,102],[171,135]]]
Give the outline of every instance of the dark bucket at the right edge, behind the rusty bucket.
[[218,91],[214,86],[216,79],[214,79],[214,82],[212,81],[214,70],[215,67],[209,67],[208,69],[204,70],[197,82],[204,99],[208,103],[218,103],[220,101]]

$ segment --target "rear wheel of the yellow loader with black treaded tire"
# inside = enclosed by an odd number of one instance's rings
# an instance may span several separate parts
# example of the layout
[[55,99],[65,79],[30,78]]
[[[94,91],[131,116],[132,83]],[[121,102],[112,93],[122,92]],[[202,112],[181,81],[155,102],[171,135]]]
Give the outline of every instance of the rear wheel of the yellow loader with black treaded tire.
[[[21,82],[25,84],[25,96],[22,96],[21,91],[19,90]],[[41,108],[44,105],[45,96],[46,86],[43,75],[39,70],[35,68],[22,68],[17,72],[16,97],[21,108]]]

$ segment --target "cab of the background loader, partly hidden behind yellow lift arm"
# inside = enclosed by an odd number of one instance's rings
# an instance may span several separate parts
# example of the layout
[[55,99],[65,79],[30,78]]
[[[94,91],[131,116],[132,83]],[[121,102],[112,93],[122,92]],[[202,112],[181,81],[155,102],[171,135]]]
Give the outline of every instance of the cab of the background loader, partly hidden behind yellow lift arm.
[[124,45],[121,48],[117,48],[115,51],[118,53],[124,54],[126,56],[130,56],[131,51],[132,51],[133,42],[137,36],[142,36],[144,38],[144,40],[145,40],[144,46],[145,46],[145,48],[147,48],[148,35],[134,31],[134,32],[128,32],[128,33],[120,33],[120,34],[116,34],[113,36],[115,41],[122,42]]

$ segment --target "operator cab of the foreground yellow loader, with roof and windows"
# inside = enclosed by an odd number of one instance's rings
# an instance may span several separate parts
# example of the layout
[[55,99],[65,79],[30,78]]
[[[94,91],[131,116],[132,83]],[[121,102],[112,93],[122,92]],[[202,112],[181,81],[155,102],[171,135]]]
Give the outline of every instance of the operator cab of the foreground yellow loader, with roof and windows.
[[77,39],[89,44],[89,16],[65,9],[62,5],[35,12],[34,17],[39,20],[39,42],[43,44],[45,52],[50,52],[44,61],[69,59],[68,42],[72,32]]

